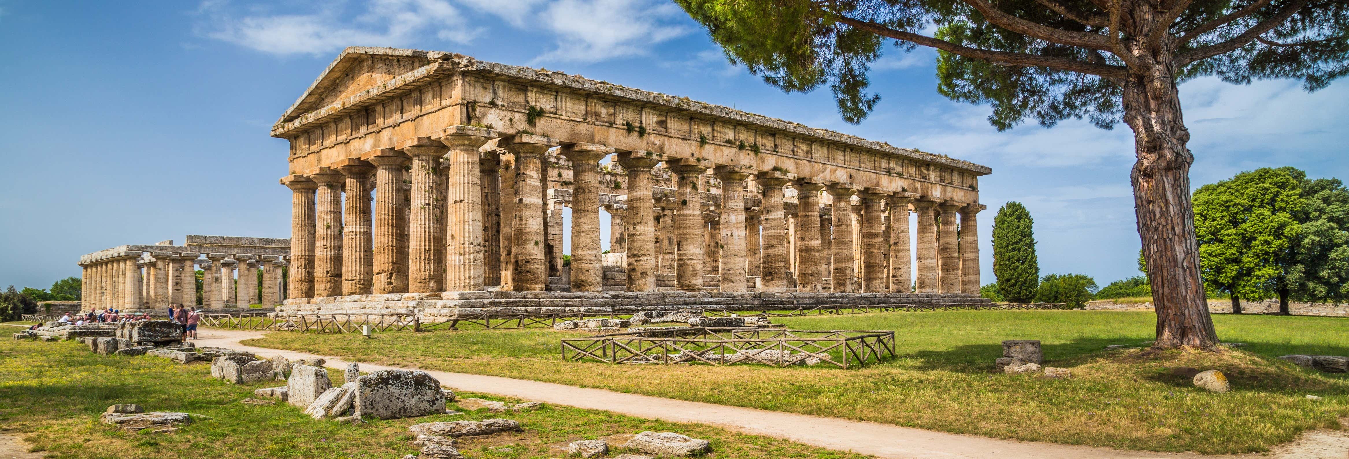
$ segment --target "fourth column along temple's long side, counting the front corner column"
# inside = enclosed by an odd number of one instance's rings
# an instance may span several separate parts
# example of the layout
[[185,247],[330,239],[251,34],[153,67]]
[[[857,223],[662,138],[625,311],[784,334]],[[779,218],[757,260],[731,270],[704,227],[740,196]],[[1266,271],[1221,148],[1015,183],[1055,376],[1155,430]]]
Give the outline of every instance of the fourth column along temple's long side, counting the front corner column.
[[652,167],[665,155],[649,151],[618,153],[618,164],[627,171],[627,291],[656,289],[656,226],[652,201]]

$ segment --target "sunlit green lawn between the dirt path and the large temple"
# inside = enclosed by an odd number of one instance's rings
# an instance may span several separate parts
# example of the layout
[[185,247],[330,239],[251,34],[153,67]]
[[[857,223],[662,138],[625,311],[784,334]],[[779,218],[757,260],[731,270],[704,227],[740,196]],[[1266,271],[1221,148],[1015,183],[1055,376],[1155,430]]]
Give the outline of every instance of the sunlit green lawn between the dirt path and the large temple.
[[[1349,377],[1302,370],[1272,357],[1349,355],[1349,320],[1215,315],[1221,354],[1106,345],[1152,339],[1151,312],[952,311],[777,318],[799,330],[896,330],[898,358],[857,370],[563,362],[552,330],[271,332],[248,345],[349,359],[560,382],[585,388],[847,417],[947,432],[1128,450],[1207,454],[1265,451],[1349,416]],[[993,373],[1002,339],[1040,339],[1048,366],[1074,378]],[[1219,369],[1232,393],[1206,393],[1178,366]],[[1325,397],[1321,401],[1306,394]]]

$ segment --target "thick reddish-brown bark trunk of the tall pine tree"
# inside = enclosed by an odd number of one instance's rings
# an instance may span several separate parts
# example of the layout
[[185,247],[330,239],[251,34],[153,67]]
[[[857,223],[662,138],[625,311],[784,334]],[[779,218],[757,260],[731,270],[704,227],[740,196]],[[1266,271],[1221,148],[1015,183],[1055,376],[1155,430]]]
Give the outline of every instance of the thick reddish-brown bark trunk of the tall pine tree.
[[[1153,62],[1170,62],[1156,59]],[[1133,201],[1157,312],[1155,347],[1214,349],[1218,334],[1199,280],[1190,203],[1190,132],[1180,114],[1175,69],[1136,69],[1124,82],[1124,121],[1133,128]]]

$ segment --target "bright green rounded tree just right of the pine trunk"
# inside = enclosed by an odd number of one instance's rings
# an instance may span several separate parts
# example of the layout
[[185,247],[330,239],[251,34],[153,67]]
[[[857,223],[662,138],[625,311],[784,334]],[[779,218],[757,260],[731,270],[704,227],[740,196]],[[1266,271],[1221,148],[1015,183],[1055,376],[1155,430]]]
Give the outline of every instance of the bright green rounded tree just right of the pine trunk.
[[1230,295],[1232,312],[1241,299],[1271,296],[1278,258],[1292,248],[1300,225],[1302,171],[1257,168],[1210,183],[1194,192],[1194,229],[1199,271],[1210,289]]

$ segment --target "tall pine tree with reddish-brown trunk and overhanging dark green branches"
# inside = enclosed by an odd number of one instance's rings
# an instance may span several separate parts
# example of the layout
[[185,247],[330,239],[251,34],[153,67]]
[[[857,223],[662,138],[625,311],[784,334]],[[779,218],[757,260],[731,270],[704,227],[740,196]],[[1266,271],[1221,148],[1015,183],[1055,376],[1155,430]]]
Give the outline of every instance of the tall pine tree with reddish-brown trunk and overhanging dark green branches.
[[[989,121],[1086,117],[1135,133],[1139,234],[1152,269],[1157,347],[1215,349],[1190,206],[1190,131],[1179,83],[1349,73],[1342,0],[676,0],[727,57],[786,92],[828,85],[859,122],[882,46],[936,48],[938,92],[992,102]],[[932,30],[935,34],[925,35]],[[892,42],[893,40],[893,42]]]

